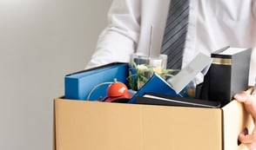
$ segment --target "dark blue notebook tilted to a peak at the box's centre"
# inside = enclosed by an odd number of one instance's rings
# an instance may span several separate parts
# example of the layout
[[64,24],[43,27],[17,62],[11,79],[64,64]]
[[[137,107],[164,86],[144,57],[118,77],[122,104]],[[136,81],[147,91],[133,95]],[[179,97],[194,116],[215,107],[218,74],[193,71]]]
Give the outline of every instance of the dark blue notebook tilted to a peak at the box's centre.
[[156,93],[182,97],[182,95],[179,95],[175,92],[175,90],[168,82],[165,82],[165,80],[157,74],[152,75],[152,77],[147,82],[145,82],[145,85],[131,97],[131,100],[128,103],[135,103],[136,97],[143,96],[145,93]]

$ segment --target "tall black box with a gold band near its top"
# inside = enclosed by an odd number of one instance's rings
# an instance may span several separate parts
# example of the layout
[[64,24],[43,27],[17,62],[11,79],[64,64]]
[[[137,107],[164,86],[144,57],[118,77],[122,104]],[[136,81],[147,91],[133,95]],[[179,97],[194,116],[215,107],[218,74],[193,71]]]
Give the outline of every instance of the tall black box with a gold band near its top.
[[212,53],[212,64],[205,75],[200,98],[221,101],[232,100],[233,95],[248,88],[252,49],[226,47]]

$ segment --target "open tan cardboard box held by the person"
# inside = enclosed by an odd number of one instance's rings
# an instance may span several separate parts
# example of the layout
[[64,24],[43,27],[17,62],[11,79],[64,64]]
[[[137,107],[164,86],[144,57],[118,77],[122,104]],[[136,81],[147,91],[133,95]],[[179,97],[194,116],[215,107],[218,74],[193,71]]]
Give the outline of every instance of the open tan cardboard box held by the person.
[[243,105],[185,108],[54,100],[55,150],[240,150]]

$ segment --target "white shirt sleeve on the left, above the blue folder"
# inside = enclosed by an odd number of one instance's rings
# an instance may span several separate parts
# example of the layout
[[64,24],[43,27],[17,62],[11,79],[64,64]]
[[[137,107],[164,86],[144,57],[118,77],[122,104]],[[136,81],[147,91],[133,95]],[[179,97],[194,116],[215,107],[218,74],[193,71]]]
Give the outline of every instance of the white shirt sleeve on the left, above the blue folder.
[[110,62],[129,62],[138,43],[140,12],[140,0],[112,1],[108,26],[98,37],[97,48],[86,68]]

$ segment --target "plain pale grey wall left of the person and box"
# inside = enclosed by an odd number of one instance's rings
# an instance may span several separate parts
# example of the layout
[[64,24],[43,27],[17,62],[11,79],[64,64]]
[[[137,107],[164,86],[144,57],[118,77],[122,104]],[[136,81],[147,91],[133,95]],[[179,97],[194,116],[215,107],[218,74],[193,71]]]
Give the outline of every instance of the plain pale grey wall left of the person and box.
[[111,0],[0,0],[0,149],[52,149],[53,98],[84,69]]

